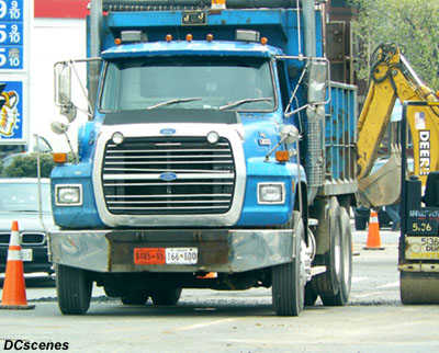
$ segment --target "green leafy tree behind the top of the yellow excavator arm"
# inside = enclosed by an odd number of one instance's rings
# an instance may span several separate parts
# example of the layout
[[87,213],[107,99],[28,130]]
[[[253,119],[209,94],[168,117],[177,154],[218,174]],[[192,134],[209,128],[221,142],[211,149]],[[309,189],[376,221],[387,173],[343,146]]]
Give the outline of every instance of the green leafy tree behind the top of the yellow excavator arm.
[[395,43],[420,79],[439,88],[439,1],[349,0],[358,10],[353,29],[359,39],[359,78],[368,79],[373,50]]

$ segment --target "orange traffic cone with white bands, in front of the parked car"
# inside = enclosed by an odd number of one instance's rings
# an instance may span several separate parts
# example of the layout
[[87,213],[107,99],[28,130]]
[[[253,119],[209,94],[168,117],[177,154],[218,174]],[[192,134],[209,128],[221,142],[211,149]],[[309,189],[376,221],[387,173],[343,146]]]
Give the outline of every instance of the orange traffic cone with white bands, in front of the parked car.
[[19,223],[12,221],[11,239],[9,241],[7,272],[3,283],[3,295],[0,309],[33,309],[27,305],[24,284],[23,260],[21,258]]

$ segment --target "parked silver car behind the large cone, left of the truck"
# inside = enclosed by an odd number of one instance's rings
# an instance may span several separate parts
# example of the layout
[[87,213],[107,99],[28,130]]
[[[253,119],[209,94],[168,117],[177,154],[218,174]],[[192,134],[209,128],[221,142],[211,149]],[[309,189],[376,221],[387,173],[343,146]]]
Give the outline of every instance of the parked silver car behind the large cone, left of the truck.
[[37,179],[0,179],[0,272],[5,271],[13,220],[19,223],[24,272],[53,272],[48,261],[46,232],[56,227],[52,215],[49,179],[41,179],[41,186],[40,218]]

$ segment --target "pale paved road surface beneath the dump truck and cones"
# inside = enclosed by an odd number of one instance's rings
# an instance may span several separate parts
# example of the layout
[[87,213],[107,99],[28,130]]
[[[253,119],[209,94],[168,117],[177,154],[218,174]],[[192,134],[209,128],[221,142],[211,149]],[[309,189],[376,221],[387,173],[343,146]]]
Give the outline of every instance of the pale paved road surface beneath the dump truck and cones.
[[53,280],[26,275],[36,307],[0,311],[0,348],[14,339],[59,342],[68,352],[438,352],[439,306],[399,301],[397,234],[381,230],[384,250],[363,250],[365,231],[353,240],[346,307],[317,301],[299,318],[275,317],[262,288],[183,291],[176,307],[128,307],[94,288],[88,315],[61,316]]

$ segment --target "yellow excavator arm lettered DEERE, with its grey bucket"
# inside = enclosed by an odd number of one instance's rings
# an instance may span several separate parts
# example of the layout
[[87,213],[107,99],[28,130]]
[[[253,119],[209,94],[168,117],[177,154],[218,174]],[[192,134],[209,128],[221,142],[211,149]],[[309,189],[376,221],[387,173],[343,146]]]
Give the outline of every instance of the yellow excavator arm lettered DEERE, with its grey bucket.
[[[401,156],[397,148],[393,149],[385,166],[370,174],[396,98],[402,103],[438,101],[395,45],[379,46],[374,57],[371,83],[358,121],[357,143],[360,204],[368,207],[399,201]],[[432,106],[413,107],[407,121],[413,140],[415,173],[425,185],[427,174],[439,170],[439,110]]]

